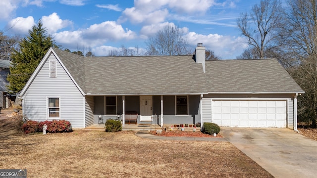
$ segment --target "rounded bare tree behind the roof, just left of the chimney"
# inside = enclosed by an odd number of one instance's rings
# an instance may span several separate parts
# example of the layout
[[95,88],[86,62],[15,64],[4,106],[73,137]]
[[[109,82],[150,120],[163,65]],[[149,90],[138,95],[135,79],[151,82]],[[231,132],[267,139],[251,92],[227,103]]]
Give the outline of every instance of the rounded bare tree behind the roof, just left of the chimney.
[[181,29],[166,25],[146,42],[147,55],[185,55],[192,54],[192,47],[183,37]]

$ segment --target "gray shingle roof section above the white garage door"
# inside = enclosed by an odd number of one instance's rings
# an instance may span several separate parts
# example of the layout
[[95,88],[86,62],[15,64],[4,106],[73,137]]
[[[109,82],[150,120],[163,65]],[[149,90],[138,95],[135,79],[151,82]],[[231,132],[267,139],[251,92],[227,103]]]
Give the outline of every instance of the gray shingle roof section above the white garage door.
[[276,59],[206,61],[209,92],[303,92]]

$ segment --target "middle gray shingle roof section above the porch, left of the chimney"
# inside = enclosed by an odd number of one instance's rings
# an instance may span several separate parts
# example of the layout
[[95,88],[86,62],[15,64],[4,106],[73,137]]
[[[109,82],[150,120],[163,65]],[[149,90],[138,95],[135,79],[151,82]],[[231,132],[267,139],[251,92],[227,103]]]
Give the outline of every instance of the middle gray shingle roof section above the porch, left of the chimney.
[[95,94],[180,94],[205,89],[202,64],[192,56],[92,57],[86,90]]

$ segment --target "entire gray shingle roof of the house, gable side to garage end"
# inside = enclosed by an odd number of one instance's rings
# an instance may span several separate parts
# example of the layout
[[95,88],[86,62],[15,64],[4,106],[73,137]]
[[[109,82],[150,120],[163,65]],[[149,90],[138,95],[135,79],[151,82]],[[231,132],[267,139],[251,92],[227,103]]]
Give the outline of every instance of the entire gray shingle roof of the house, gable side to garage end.
[[303,92],[275,59],[206,61],[204,74],[192,55],[82,57],[54,51],[88,94]]

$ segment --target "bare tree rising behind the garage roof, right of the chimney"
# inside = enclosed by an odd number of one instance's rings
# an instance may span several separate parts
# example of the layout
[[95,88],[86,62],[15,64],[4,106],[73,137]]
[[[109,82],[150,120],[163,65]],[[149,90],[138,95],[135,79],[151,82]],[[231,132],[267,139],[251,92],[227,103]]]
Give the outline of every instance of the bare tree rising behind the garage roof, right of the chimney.
[[241,34],[247,37],[251,49],[255,50],[252,51],[253,58],[265,58],[265,51],[279,46],[276,40],[279,38],[277,31],[282,10],[279,0],[261,0],[260,4],[253,6],[249,14],[242,13],[237,19]]

